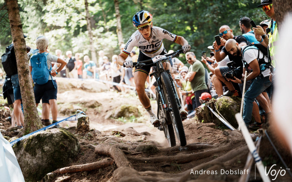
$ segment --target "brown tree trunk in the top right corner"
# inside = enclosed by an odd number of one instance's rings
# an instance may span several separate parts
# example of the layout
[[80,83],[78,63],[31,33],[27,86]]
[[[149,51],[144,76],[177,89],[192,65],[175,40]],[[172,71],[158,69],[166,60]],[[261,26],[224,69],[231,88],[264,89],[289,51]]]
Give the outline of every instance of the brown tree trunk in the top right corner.
[[278,30],[281,29],[281,23],[284,21],[284,17],[288,12],[292,11],[291,0],[273,0],[274,11],[277,21]]

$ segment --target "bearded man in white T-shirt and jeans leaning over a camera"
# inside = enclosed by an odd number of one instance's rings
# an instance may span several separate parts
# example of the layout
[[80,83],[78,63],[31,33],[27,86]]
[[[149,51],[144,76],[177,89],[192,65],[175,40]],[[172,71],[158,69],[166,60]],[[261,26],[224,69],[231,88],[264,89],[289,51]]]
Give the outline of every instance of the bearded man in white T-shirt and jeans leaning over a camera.
[[[268,92],[270,92],[268,89],[271,85],[271,82],[269,80],[270,69],[265,68],[264,64],[262,64],[267,63],[268,65],[269,61],[267,56],[265,56],[263,52],[261,52],[255,46],[241,48],[235,40],[230,39],[227,40],[225,47],[230,54],[234,56],[242,56],[242,60],[247,63],[245,67],[249,74],[246,77],[246,81],[252,80],[252,83],[249,86],[249,89],[244,94],[243,120],[245,124],[249,126],[253,111],[254,99],[266,89]],[[230,79],[230,81],[238,84],[244,82],[243,79],[238,79],[237,77],[233,77],[233,79]],[[253,123],[250,126],[250,129],[258,129],[262,126],[259,113],[255,114],[256,123]]]

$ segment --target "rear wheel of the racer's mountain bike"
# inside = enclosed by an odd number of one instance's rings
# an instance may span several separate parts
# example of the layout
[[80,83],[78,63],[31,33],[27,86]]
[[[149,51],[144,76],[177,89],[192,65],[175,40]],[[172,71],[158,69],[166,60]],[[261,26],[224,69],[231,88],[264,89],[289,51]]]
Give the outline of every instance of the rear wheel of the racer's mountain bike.
[[175,146],[176,144],[175,144],[175,135],[173,131],[173,126],[172,126],[172,123],[167,124],[166,111],[162,106],[161,98],[160,98],[159,91],[157,88],[155,89],[155,93],[156,93],[156,100],[157,100],[157,107],[158,107],[157,116],[159,120],[163,120],[161,122],[161,126],[164,131],[166,142],[168,146]]

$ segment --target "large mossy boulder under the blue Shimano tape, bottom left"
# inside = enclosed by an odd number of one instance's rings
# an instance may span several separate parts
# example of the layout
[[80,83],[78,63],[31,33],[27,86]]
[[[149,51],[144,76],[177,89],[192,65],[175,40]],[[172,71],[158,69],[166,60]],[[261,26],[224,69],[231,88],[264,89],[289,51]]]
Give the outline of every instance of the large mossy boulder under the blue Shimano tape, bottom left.
[[39,181],[47,173],[65,167],[79,149],[77,138],[62,128],[45,130],[13,145],[26,182]]

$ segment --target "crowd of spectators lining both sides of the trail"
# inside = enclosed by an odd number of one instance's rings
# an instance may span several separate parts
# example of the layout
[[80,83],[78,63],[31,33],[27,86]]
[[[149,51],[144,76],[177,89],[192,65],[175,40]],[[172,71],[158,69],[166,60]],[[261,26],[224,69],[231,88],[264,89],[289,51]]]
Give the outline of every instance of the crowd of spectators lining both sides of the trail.
[[[273,42],[278,39],[277,24],[271,0],[262,1],[259,7],[271,20],[263,20],[258,26],[252,27],[250,18],[239,18],[238,28],[242,35],[234,35],[233,30],[228,25],[220,26],[218,29],[220,39],[217,41],[214,39],[215,41],[206,47],[210,50],[208,56],[203,52],[202,56],[196,56],[194,52],[185,54],[189,67],[178,58],[169,60],[172,67],[171,75],[183,96],[183,105],[186,111],[191,113],[195,108],[200,107],[212,98],[217,99],[222,96],[241,97],[244,80],[246,80],[243,107],[243,119],[246,125],[250,129],[258,129],[267,118],[270,118],[270,99],[274,82],[273,71],[276,66]],[[53,123],[57,122],[57,83],[55,82],[55,76],[58,73],[60,77],[94,78],[108,81],[107,83],[113,82],[116,84],[110,86],[118,92],[126,91],[126,87],[123,85],[135,86],[133,76],[135,68],[120,66],[117,63],[118,55],[113,55],[109,59],[105,56],[105,52],[100,50],[96,62],[92,61],[88,55],[84,55],[82,61],[81,54],[75,53],[72,56],[72,51],[67,51],[66,56],[64,56],[62,51],[57,49],[55,55],[53,55],[47,50],[48,44],[48,39],[39,36],[36,39],[36,49],[27,47],[30,56],[30,71],[34,70],[34,58],[39,54],[46,54],[46,66],[50,71],[50,76],[45,84],[38,83],[35,75],[32,74],[36,105],[40,103],[40,100],[43,104],[42,123],[44,125],[50,124],[48,118],[50,109]],[[270,48],[269,54],[267,54],[267,45]],[[123,44],[119,47],[121,52],[125,46]],[[169,50],[168,53],[172,52],[173,50]],[[135,50],[132,50],[126,61],[137,62],[137,59],[138,55]],[[245,71],[247,71],[246,78],[244,78]],[[152,70],[150,70],[151,72]],[[155,97],[156,86],[155,78],[148,77],[145,88],[150,90],[153,97]],[[24,123],[17,72],[13,75],[6,73],[3,94],[4,97],[8,98],[9,104],[13,103],[13,124],[22,127]],[[256,123],[250,123],[252,114]]]

